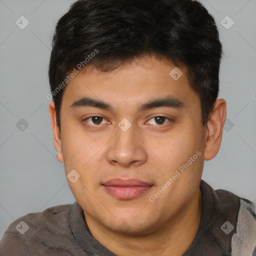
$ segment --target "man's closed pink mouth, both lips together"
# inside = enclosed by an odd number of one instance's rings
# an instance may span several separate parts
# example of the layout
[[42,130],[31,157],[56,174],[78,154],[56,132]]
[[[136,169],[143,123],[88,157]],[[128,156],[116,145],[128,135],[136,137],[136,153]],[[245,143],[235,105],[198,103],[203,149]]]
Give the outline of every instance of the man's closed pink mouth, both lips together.
[[101,185],[107,193],[122,200],[134,199],[153,186],[139,179],[121,178],[110,179]]

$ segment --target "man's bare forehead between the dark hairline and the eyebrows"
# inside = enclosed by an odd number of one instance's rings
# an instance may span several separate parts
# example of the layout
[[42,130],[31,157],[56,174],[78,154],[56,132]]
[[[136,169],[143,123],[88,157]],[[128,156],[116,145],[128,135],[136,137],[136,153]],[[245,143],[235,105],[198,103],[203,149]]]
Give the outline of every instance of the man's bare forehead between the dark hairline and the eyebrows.
[[78,105],[77,101],[89,97],[103,101],[108,108],[126,105],[142,110],[141,103],[170,96],[177,104],[188,107],[198,97],[190,88],[186,73],[184,66],[175,67],[170,61],[154,57],[134,60],[109,72],[91,66],[69,81],[62,103]]

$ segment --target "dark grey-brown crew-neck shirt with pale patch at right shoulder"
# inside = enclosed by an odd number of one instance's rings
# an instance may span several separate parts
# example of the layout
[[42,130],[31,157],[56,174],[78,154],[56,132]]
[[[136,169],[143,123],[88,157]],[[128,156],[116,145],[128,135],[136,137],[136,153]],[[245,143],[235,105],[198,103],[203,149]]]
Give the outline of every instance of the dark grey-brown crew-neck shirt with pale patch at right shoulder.
[[[201,180],[202,215],[183,256],[256,256],[256,206]],[[73,204],[28,213],[13,221],[0,241],[0,256],[114,256],[90,233],[83,210]]]

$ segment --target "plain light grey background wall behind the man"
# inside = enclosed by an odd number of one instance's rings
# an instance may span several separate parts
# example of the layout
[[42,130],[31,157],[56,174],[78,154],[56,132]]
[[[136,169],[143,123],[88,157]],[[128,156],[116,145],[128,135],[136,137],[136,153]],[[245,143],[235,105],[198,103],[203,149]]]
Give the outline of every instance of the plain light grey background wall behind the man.
[[[46,98],[51,35],[71,2],[0,0],[0,237],[22,215],[75,200],[56,159]],[[229,120],[202,178],[254,201],[256,0],[201,2],[214,16],[223,44],[219,98],[227,101]],[[29,21],[24,29],[15,23],[22,15]],[[229,29],[220,23],[227,15],[234,21]],[[23,130],[16,126],[21,118],[28,123]]]

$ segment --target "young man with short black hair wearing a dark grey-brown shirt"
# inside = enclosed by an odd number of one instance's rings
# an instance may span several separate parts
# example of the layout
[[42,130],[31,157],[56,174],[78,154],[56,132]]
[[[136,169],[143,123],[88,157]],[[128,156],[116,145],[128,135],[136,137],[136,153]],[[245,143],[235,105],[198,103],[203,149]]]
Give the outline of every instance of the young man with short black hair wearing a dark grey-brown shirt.
[[201,180],[226,117],[221,54],[197,1],[74,2],[49,113],[76,202],[12,222],[0,255],[256,255],[255,204]]

